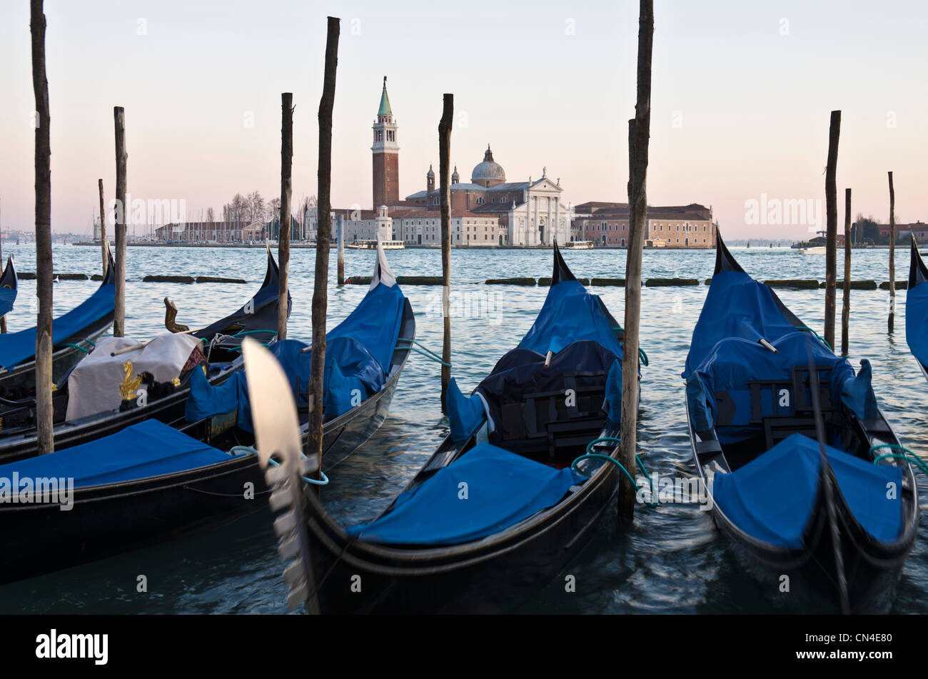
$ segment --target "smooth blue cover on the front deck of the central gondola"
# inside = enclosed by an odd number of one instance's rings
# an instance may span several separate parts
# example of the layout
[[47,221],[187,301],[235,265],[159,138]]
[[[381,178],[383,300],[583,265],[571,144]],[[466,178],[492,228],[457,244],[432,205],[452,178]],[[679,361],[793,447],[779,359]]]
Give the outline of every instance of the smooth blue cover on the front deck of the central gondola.
[[431,479],[397,496],[391,511],[349,535],[381,544],[460,544],[503,531],[557,505],[585,479],[478,443]]

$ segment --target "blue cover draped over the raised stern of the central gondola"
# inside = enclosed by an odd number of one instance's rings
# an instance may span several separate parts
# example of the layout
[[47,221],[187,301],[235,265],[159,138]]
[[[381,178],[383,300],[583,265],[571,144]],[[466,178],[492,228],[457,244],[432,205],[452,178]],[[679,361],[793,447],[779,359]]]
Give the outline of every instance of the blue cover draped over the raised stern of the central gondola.
[[615,338],[599,297],[589,294],[579,281],[565,280],[548,289],[545,303],[519,347],[544,356],[548,352],[560,352],[568,344],[583,339],[597,341],[622,356],[619,340]]

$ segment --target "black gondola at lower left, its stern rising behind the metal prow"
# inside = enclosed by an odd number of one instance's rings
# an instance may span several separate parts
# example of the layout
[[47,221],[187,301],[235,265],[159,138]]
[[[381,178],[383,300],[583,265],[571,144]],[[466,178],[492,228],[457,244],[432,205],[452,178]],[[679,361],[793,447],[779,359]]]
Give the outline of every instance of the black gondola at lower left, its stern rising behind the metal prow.
[[[357,349],[355,342],[364,344],[364,340],[382,338],[381,328],[391,320],[387,317],[390,310],[393,310],[391,346],[384,352],[382,347],[367,345],[372,360],[387,364],[382,368],[385,381],[380,389],[346,412],[338,407],[340,394],[331,398],[327,395],[325,400],[323,445],[327,468],[347,455],[346,451],[366,441],[380,426],[415,339],[412,307],[386,267],[381,251],[365,299],[329,332],[327,343],[333,348],[333,362],[346,356],[353,359],[345,365],[326,362],[332,384],[338,383],[332,377],[336,370],[341,371],[342,387],[347,383],[354,388],[355,374],[363,379],[370,377],[370,363],[363,365],[358,354],[344,345],[351,344]],[[367,335],[368,332],[374,335]],[[254,340],[254,335],[246,335],[245,339]],[[286,381],[280,385],[283,392],[270,396],[273,407],[284,396],[290,403],[294,398],[304,403],[303,378],[295,381],[290,372],[294,365],[302,368],[303,364],[287,348],[305,346],[284,339],[268,348],[268,352],[278,352],[277,360],[271,360],[278,370],[287,373]],[[310,356],[309,352],[299,353],[300,358]],[[305,365],[308,366],[308,360]],[[338,387],[334,391],[339,391]],[[218,401],[213,400],[215,403]],[[331,413],[329,407],[333,408]],[[305,419],[304,411],[301,418]],[[211,420],[204,417],[197,427],[210,429],[215,424]],[[0,466],[0,533],[4,535],[0,583],[218,525],[264,507],[267,489],[258,458],[250,447],[254,439],[247,425],[245,429],[222,428],[209,443],[202,441],[206,438],[203,433],[191,429],[185,432],[157,419],[147,419],[97,441]],[[297,436],[305,434],[303,422]],[[14,480],[22,497],[25,479],[33,480],[32,489],[41,488],[43,493],[39,493],[40,497],[33,495],[28,502],[12,500]],[[71,493],[58,493],[59,480],[65,480],[67,489],[68,479],[73,484]]]

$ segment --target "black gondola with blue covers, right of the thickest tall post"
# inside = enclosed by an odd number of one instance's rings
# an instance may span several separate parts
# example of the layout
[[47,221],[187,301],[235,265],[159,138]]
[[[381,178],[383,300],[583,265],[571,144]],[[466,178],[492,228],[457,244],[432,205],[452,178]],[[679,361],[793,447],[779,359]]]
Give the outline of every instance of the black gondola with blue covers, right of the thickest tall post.
[[855,374],[718,237],[683,373],[692,455],[716,526],[786,609],[888,609],[915,540],[912,468],[880,459],[899,441],[860,363]]

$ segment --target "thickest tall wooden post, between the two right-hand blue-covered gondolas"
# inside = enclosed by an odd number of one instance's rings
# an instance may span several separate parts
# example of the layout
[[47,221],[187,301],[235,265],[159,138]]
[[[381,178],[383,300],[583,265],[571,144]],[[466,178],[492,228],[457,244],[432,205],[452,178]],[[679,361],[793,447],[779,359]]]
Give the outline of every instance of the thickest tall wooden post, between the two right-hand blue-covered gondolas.
[[[622,429],[619,462],[635,475],[638,438],[638,322],[641,315],[641,253],[648,219],[648,143],[651,135],[651,48],[653,0],[638,6],[638,101],[628,122],[628,250],[625,254],[625,343],[622,348]],[[626,525],[635,514],[635,488],[620,474],[619,519]]]

